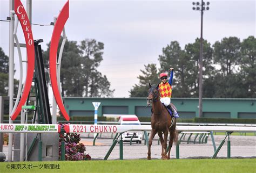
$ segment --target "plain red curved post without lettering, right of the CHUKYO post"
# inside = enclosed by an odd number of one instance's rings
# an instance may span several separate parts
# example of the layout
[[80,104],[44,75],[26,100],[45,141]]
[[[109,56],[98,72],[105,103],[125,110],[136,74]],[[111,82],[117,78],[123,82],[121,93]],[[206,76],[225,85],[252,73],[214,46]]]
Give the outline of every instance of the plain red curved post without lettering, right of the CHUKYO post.
[[60,112],[62,112],[64,118],[69,121],[69,115],[65,110],[62,102],[62,98],[59,94],[58,83],[57,83],[57,70],[56,70],[56,60],[57,60],[57,50],[60,39],[60,34],[64,28],[66,20],[69,18],[69,1],[63,6],[56,20],[55,26],[53,28],[50,46],[50,78],[53,95],[55,96],[56,102],[59,106]]

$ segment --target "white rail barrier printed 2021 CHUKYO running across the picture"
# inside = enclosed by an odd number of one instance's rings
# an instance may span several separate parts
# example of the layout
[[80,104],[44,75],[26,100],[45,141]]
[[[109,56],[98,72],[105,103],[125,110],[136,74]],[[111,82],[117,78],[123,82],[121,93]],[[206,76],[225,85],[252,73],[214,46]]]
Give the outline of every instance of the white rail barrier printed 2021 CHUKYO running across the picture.
[[[181,132],[256,132],[251,126],[176,126]],[[151,131],[151,125],[64,125],[66,133],[124,133],[126,131]],[[58,124],[0,124],[0,133],[59,133]]]

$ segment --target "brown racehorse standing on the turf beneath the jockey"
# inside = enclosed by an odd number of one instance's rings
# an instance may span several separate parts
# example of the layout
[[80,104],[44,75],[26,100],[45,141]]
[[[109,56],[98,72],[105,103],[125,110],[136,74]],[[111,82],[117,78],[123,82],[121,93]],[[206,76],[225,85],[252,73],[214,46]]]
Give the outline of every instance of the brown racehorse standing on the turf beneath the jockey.
[[[151,86],[149,83],[149,93],[147,95],[147,106],[152,104],[152,116],[151,116],[151,133],[149,140],[149,148],[147,152],[147,160],[151,160],[151,145],[156,133],[158,134],[162,146],[161,151],[161,159],[170,159],[170,153],[173,141],[177,142],[178,140],[178,132],[176,130],[176,118],[170,116],[169,112],[166,110],[165,106],[160,102],[160,93],[158,90],[158,86]],[[176,107],[172,104],[173,109]],[[167,151],[167,137],[170,132],[170,140],[169,140],[169,150]],[[164,134],[164,139],[163,135]],[[168,153],[168,155],[167,155]]]

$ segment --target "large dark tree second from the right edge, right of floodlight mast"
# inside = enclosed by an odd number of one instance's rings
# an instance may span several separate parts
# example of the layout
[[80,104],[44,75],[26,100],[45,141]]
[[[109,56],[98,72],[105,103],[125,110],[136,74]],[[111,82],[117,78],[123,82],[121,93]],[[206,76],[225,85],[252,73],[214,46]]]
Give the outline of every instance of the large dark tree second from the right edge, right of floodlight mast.
[[[214,97],[247,97],[249,84],[246,84],[244,78],[245,75],[248,75],[246,66],[253,63],[253,61],[250,62],[250,53],[248,53],[250,49],[253,50],[253,45],[248,47],[244,43],[243,49],[241,46],[237,37],[224,38],[220,42],[216,41],[213,45],[214,63],[220,66],[220,70],[217,72],[218,75],[214,80],[216,89]],[[244,58],[242,58],[242,54]],[[239,71],[241,68],[244,70]]]

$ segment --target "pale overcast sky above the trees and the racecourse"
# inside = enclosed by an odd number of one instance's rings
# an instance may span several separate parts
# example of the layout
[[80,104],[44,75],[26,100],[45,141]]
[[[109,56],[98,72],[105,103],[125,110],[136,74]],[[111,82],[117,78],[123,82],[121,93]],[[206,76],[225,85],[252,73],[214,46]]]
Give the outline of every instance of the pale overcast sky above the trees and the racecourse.
[[[50,24],[66,0],[32,1],[32,23]],[[96,39],[104,43],[99,71],[115,89],[114,97],[129,97],[138,84],[144,64],[158,63],[163,47],[177,40],[181,47],[200,37],[200,12],[192,10],[193,1],[77,1],[70,0],[70,17],[65,25],[69,40]],[[207,2],[207,1],[205,1]],[[204,12],[203,37],[211,42],[224,37],[242,41],[255,37],[255,1],[209,1]],[[26,6],[26,1],[22,1]],[[9,16],[9,1],[0,1],[0,19]],[[19,42],[24,42],[21,27]],[[34,39],[44,39],[42,48],[51,39],[53,26],[32,25]],[[9,23],[0,22],[0,47],[9,55]],[[23,59],[25,51],[23,50]],[[170,62],[170,67],[172,66]],[[15,77],[18,78],[18,57],[15,53]],[[174,67],[175,69],[175,67]],[[25,74],[24,74],[25,76]],[[174,74],[175,77],[175,74]]]

